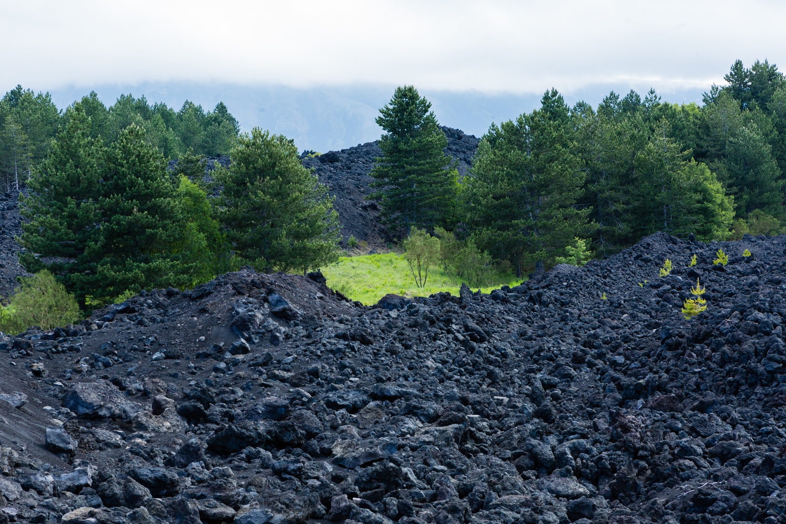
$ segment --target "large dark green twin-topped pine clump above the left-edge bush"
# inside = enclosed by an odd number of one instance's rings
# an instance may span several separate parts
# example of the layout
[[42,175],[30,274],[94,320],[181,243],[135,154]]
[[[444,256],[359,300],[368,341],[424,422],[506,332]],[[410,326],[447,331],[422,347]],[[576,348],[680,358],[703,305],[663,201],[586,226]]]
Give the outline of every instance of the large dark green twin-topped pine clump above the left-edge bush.
[[129,290],[204,280],[204,268],[200,273],[183,248],[199,228],[189,229],[195,221],[185,213],[179,180],[167,174],[145,131],[131,125],[107,148],[90,136],[81,104],[67,116],[34,171],[30,196],[20,199],[29,221],[21,238],[25,268],[50,270],[83,308],[88,299],[99,305]]

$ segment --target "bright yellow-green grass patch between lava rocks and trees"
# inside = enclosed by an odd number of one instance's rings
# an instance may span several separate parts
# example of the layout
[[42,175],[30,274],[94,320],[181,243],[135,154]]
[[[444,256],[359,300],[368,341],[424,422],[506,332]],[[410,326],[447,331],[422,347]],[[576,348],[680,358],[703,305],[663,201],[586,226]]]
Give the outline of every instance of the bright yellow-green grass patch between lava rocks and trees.
[[[435,265],[428,271],[426,287],[417,288],[409,264],[395,253],[342,257],[337,264],[322,268],[322,273],[328,279],[329,288],[365,305],[376,304],[387,293],[410,298],[428,296],[439,291],[450,291],[453,295],[458,295],[462,282],[460,277],[446,273],[441,265]],[[489,281],[492,284],[481,288],[483,293],[505,284],[513,287],[521,284],[523,280],[516,278],[515,274],[498,273],[494,269],[491,269],[490,273]]]

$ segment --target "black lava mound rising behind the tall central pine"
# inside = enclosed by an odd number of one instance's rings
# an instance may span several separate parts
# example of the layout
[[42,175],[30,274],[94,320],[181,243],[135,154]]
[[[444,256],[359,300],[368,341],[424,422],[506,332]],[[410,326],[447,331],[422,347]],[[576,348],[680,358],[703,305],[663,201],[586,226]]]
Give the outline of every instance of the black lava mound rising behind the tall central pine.
[[[464,177],[472,167],[479,139],[450,127],[442,129],[448,141],[445,154],[458,163],[459,175]],[[314,168],[319,181],[328,185],[330,195],[336,198],[333,207],[339,214],[344,242],[354,236],[368,242],[371,248],[380,248],[396,240],[380,224],[379,205],[373,200],[366,200],[375,191],[370,187],[374,179],[369,176],[369,171],[374,166],[374,159],[382,156],[377,142],[314,157],[308,156],[310,153],[313,152],[303,152],[300,158],[304,166]]]

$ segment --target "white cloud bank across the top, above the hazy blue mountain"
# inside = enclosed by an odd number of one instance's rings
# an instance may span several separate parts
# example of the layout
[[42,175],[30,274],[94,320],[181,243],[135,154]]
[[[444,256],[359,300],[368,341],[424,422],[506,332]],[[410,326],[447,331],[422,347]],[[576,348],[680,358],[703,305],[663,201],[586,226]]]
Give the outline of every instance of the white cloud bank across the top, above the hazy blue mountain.
[[[133,82],[570,93],[722,82],[786,49],[782,2],[0,0],[0,86]],[[740,12],[742,9],[742,12]],[[741,23],[757,13],[755,31]],[[747,27],[744,29],[742,27]]]

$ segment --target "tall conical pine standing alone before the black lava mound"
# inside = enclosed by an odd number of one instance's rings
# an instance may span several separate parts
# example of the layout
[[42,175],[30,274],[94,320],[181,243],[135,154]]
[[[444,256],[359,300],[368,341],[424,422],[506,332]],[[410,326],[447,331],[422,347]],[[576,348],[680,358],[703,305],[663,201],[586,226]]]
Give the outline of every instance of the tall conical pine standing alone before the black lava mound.
[[410,229],[454,222],[458,172],[443,152],[447,138],[432,104],[413,86],[398,87],[380,109],[382,154],[370,175],[387,224]]

